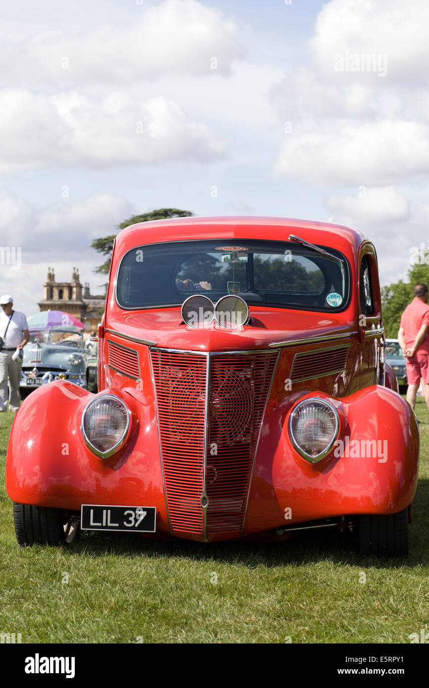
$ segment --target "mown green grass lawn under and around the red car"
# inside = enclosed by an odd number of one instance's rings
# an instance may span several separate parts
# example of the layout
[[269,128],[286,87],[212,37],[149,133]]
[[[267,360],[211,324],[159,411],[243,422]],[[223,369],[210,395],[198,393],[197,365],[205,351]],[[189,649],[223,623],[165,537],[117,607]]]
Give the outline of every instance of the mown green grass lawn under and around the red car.
[[[429,622],[429,414],[420,398],[417,417],[420,480],[410,555],[400,561],[359,557],[353,535],[328,531],[209,546],[85,534],[69,548],[21,549],[3,479],[0,632],[23,643],[409,643]],[[3,477],[12,418],[0,414]]]

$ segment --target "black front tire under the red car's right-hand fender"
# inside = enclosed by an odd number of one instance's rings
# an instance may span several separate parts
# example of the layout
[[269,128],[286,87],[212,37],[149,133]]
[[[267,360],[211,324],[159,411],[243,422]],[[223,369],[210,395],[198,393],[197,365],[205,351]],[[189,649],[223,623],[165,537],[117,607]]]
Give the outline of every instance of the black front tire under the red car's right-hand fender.
[[361,516],[359,550],[366,557],[406,557],[408,507],[396,514]]

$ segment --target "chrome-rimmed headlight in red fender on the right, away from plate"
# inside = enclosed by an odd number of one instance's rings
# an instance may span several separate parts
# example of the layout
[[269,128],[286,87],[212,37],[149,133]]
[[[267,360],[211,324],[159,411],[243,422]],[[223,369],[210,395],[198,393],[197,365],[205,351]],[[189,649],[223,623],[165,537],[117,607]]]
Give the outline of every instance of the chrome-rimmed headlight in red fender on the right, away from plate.
[[300,455],[312,464],[332,449],[339,432],[337,409],[322,399],[305,399],[289,416],[289,436]]

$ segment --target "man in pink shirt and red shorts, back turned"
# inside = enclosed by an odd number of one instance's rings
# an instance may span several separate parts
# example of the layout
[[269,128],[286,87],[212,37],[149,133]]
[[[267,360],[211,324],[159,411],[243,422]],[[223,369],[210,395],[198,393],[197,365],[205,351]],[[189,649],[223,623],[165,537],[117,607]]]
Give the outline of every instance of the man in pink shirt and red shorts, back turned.
[[414,409],[420,378],[426,383],[425,398],[429,409],[429,306],[428,285],[416,284],[414,299],[401,316],[399,345],[406,357],[407,401]]

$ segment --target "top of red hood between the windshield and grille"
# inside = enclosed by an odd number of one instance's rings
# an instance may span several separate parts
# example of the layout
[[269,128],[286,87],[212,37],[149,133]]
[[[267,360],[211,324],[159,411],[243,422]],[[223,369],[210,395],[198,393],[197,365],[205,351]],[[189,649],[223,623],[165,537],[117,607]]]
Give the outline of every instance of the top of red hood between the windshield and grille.
[[344,313],[306,312],[284,308],[251,306],[251,323],[240,330],[229,330],[216,323],[196,330],[182,323],[180,308],[159,308],[125,312],[121,319],[109,319],[105,327],[129,338],[158,347],[191,351],[264,349],[280,343],[313,336],[332,336],[353,332],[355,323]]

